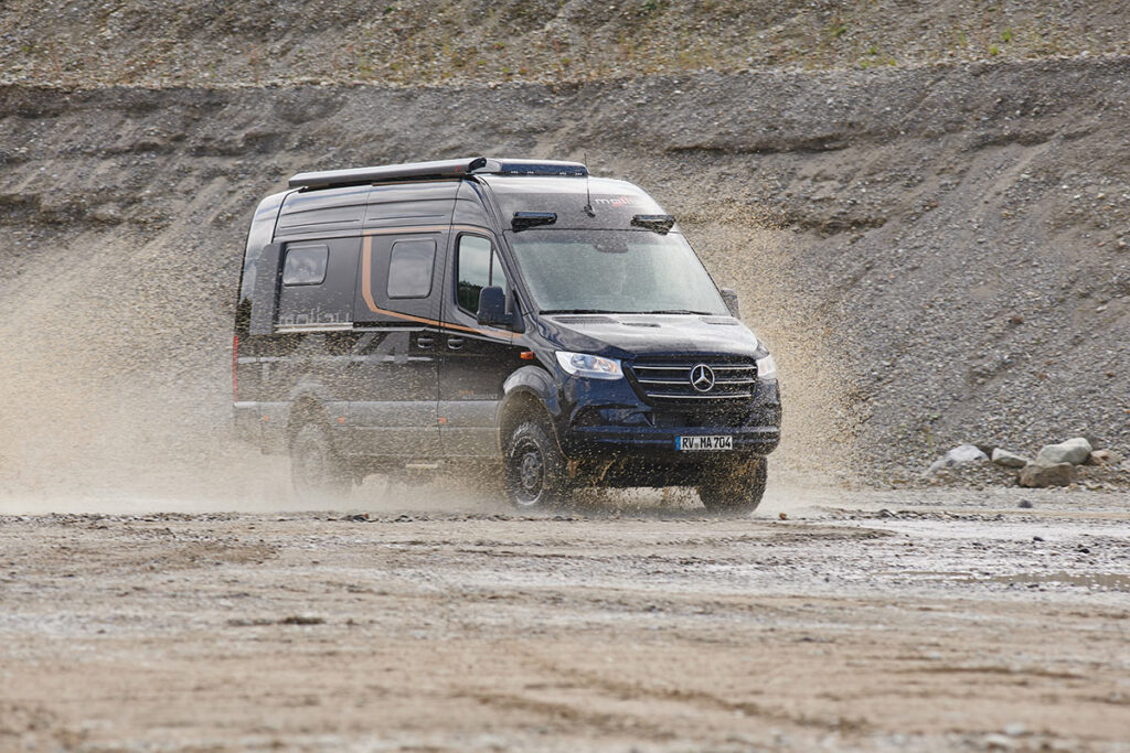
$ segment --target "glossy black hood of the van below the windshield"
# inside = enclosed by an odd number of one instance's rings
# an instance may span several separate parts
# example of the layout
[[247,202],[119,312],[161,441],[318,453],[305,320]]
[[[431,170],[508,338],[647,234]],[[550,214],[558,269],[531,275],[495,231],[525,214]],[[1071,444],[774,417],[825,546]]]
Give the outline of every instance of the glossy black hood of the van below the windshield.
[[631,359],[644,353],[754,357],[757,338],[732,316],[698,314],[554,314],[539,333],[562,350]]

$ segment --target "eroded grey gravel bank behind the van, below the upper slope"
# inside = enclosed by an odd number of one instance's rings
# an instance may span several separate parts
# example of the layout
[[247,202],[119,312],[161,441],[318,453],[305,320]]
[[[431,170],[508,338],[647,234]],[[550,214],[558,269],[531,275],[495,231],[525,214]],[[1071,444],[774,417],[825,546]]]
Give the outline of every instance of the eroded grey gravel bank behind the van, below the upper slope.
[[898,483],[962,441],[1124,446],[1127,71],[0,88],[0,422],[19,439],[0,489],[275,496],[227,439],[252,207],[301,169],[478,152],[588,158],[680,218],[777,354],[780,473]]

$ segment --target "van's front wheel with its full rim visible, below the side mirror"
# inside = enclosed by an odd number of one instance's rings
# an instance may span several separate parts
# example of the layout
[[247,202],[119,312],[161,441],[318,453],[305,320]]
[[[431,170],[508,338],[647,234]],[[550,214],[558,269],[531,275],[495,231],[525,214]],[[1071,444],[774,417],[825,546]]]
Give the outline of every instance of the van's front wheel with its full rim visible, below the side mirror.
[[506,497],[521,509],[547,508],[566,496],[566,461],[553,430],[525,421],[511,432],[505,447]]

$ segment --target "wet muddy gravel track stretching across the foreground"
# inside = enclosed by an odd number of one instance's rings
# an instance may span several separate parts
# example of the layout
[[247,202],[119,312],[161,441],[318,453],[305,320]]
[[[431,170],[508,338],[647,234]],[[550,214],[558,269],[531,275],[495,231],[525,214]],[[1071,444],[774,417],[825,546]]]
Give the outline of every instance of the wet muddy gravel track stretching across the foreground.
[[0,750],[1125,750],[1124,498],[831,499],[0,517]]

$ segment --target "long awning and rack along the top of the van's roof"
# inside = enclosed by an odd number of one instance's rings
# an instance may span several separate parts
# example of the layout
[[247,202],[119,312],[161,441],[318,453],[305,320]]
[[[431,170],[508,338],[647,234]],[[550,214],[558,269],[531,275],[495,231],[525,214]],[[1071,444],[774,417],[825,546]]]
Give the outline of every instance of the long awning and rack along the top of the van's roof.
[[464,157],[433,163],[406,163],[403,165],[377,165],[346,170],[321,170],[298,173],[288,182],[292,189],[330,189],[346,185],[364,185],[384,181],[438,181],[477,175],[576,175],[589,174],[581,163],[563,163],[551,159],[487,159]]

